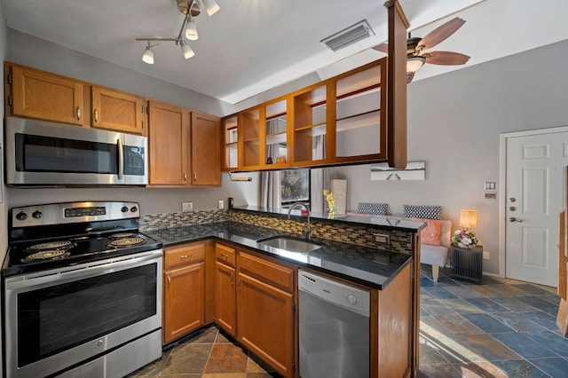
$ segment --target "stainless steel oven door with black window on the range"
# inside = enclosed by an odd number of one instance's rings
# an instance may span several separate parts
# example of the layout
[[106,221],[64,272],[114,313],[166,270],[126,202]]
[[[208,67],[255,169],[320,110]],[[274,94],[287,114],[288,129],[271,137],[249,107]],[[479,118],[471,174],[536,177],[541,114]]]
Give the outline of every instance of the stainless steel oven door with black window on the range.
[[7,376],[54,374],[162,327],[162,249],[73,269],[5,280]]

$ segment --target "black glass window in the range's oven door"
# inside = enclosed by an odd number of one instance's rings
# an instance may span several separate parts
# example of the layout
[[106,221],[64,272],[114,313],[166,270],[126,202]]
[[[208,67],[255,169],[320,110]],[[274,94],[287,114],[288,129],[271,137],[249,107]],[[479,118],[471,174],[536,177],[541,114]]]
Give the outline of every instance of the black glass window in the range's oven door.
[[157,264],[18,295],[18,366],[156,314]]

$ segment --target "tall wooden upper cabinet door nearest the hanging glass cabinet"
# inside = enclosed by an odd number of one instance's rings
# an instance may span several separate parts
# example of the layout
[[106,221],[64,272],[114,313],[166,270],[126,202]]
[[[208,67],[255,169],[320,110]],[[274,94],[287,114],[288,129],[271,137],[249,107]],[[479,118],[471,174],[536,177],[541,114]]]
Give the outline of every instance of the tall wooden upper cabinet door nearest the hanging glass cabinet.
[[192,185],[221,185],[219,118],[192,112]]

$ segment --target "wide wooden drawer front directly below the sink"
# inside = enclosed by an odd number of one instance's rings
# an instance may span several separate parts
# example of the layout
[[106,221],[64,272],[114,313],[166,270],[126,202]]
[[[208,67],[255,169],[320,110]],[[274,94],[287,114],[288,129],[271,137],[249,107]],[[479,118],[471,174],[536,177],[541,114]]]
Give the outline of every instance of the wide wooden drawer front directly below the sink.
[[292,269],[241,251],[238,258],[240,272],[244,272],[251,277],[263,280],[288,292],[293,291],[294,271]]

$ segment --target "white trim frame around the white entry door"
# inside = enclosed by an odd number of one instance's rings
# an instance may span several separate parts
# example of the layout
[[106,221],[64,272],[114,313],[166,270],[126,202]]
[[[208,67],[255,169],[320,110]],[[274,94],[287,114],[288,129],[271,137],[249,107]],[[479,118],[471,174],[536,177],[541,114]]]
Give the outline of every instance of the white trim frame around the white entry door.
[[507,206],[505,195],[507,194],[507,140],[509,138],[528,137],[533,135],[552,134],[556,132],[568,132],[568,126],[557,126],[545,129],[513,131],[502,133],[499,136],[499,277],[505,277],[505,229],[507,227],[507,218],[505,217],[505,209]]

